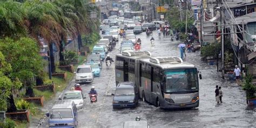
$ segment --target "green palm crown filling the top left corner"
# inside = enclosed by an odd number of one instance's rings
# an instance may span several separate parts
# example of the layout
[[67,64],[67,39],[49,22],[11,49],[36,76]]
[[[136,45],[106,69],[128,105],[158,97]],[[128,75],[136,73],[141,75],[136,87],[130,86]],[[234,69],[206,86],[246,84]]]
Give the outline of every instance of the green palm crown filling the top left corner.
[[0,2],[0,38],[26,35],[26,14],[19,2]]

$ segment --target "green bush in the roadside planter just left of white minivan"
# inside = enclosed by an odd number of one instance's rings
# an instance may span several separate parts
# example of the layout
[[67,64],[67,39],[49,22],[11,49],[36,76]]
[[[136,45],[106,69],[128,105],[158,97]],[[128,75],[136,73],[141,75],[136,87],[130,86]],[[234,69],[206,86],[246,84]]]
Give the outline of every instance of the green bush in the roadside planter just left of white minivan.
[[76,62],[78,60],[77,53],[74,51],[64,51],[64,62],[60,65],[69,65],[71,62]]

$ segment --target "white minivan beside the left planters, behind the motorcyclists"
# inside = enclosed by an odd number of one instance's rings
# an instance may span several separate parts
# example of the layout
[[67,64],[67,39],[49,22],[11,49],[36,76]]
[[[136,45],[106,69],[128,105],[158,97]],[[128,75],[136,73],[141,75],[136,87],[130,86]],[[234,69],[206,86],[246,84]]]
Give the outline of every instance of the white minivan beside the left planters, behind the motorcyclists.
[[93,72],[90,65],[79,65],[74,73],[76,73],[76,83],[93,82]]

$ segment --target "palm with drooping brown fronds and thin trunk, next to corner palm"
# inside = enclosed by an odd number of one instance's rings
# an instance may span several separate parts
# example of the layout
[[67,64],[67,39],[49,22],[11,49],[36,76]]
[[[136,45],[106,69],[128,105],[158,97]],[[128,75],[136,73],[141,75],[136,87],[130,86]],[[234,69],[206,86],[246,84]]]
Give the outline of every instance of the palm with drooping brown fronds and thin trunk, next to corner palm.
[[48,44],[50,50],[51,73],[55,73],[55,62],[53,56],[53,44],[59,48],[60,35],[63,33],[62,25],[59,24],[58,6],[52,2],[32,1],[25,2],[24,8],[28,14],[29,35],[40,42],[40,38]]

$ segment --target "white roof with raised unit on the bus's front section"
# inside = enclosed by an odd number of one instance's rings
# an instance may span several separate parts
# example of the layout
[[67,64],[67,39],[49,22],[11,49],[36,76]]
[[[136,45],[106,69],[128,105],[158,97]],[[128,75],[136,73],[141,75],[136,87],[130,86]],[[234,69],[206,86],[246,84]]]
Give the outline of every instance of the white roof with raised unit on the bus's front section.
[[151,57],[140,60],[163,69],[195,68],[193,64],[185,63],[179,57]]

